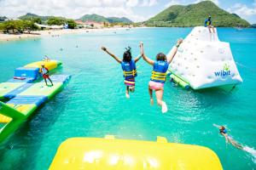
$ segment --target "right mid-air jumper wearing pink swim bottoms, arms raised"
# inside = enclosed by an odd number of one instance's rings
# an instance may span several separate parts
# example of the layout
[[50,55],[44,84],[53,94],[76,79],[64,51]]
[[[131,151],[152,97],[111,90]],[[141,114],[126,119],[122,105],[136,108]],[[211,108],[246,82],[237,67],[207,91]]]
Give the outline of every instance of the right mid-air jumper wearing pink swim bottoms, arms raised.
[[164,84],[166,82],[166,71],[168,70],[168,67],[172,62],[172,59],[174,58],[175,54],[177,53],[177,48],[182,42],[183,42],[183,39],[178,39],[177,45],[172,48],[172,51],[168,57],[166,57],[166,54],[160,53],[156,55],[155,61],[152,59],[149,59],[144,54],[143,42],[140,43],[141,55],[143,56],[143,59],[149,65],[153,65],[152,76],[150,78],[150,81],[148,82],[148,93],[150,96],[150,104],[154,105],[154,99],[152,97],[153,90],[154,90],[155,96],[157,99],[157,104],[162,107],[162,113],[166,113],[168,111],[166,102],[162,100],[163,94],[164,94]]

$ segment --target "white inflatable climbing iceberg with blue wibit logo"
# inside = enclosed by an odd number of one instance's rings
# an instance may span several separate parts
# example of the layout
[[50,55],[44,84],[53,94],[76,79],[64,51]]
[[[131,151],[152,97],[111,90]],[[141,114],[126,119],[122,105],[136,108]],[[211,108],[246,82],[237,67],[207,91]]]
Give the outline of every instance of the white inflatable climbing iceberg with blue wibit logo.
[[229,42],[220,42],[218,33],[195,27],[178,48],[169,67],[193,89],[212,88],[242,82]]

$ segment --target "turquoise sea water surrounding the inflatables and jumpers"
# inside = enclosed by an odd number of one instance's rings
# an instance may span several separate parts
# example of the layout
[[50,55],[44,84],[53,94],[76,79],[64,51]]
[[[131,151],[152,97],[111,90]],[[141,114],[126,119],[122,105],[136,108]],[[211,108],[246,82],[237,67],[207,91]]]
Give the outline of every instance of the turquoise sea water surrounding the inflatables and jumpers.
[[[255,29],[218,29],[220,40],[230,42],[244,81],[241,85],[232,92],[218,88],[186,91],[166,82],[164,99],[169,111],[165,115],[157,105],[149,105],[151,66],[143,59],[137,63],[136,91],[125,99],[121,67],[100,49],[106,46],[122,57],[125,47],[131,46],[137,56],[138,43],[143,41],[146,53],[154,59],[189,31],[191,28],[145,28],[1,42],[0,82],[12,77],[16,67],[42,59],[44,54],[61,60],[59,72],[71,74],[72,79],[0,145],[0,169],[47,169],[65,139],[106,134],[151,141],[164,136],[169,142],[199,144],[214,150],[224,169],[256,169]],[[245,150],[225,144],[214,123],[228,127]]]

